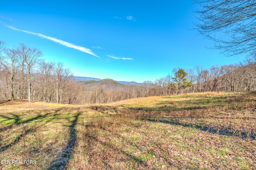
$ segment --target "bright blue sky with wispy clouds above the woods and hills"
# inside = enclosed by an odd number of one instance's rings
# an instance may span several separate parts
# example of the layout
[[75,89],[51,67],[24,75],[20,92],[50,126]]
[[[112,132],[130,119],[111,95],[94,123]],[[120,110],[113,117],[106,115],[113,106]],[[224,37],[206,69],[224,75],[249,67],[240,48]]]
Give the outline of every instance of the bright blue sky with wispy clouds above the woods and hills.
[[143,82],[175,67],[238,63],[193,29],[192,0],[0,1],[0,40],[36,47],[74,76]]

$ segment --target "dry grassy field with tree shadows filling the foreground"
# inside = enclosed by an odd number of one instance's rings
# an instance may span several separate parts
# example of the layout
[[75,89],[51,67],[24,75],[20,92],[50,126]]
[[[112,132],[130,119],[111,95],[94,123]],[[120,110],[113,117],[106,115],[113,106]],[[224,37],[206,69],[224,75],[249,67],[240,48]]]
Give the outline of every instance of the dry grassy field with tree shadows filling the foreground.
[[0,160],[2,170],[253,170],[256,92],[88,106],[3,100]]

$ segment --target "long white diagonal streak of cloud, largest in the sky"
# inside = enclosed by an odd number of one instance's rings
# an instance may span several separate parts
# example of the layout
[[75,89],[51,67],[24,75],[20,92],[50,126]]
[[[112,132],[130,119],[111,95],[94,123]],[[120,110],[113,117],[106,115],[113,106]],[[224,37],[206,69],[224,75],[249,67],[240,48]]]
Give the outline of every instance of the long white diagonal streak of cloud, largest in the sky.
[[[99,57],[97,56],[96,54],[94,54],[90,49],[88,48],[85,48],[85,47],[81,47],[81,46],[78,46],[78,45],[74,45],[72,43],[68,43],[66,41],[63,41],[61,39],[56,39],[56,38],[53,38],[53,37],[49,37],[49,36],[46,36],[46,35],[43,35],[43,34],[40,34],[40,33],[34,33],[34,32],[30,32],[30,31],[24,31],[22,29],[17,29],[17,28],[14,28],[14,27],[11,27],[11,26],[8,26],[6,25],[6,27],[10,28],[10,29],[14,29],[16,31],[22,31],[24,33],[28,33],[28,34],[32,34],[32,35],[36,35],[38,37],[41,37],[41,38],[44,38],[44,39],[49,39],[50,41],[54,41],[55,43],[58,43],[60,45],[64,45],[65,47],[69,47],[69,48],[72,48],[72,49],[76,49],[76,50],[79,50],[79,51],[82,51],[84,53],[88,53],[90,55],[94,55],[95,57]],[[100,57],[99,57],[100,58]]]

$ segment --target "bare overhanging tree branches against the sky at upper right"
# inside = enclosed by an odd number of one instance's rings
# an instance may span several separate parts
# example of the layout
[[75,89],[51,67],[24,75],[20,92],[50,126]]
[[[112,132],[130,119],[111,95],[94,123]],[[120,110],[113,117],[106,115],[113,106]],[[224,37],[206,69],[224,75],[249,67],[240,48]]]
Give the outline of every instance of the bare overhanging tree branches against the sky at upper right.
[[228,56],[256,52],[256,0],[194,0],[196,29]]

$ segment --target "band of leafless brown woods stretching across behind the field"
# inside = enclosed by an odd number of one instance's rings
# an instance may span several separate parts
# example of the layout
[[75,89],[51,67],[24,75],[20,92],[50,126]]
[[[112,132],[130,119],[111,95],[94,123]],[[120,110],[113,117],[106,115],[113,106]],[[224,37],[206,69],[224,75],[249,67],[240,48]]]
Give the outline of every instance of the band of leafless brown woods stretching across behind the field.
[[210,68],[195,66],[174,68],[172,74],[124,85],[114,80],[101,80],[98,85],[76,81],[62,63],[47,63],[42,52],[20,44],[8,48],[0,41],[0,99],[36,100],[64,104],[102,104],[130,98],[176,95],[190,92],[238,92],[256,90],[255,57],[240,64]]

